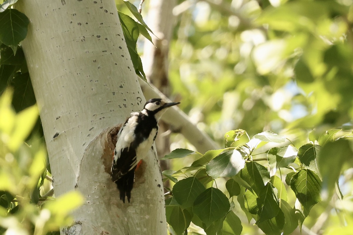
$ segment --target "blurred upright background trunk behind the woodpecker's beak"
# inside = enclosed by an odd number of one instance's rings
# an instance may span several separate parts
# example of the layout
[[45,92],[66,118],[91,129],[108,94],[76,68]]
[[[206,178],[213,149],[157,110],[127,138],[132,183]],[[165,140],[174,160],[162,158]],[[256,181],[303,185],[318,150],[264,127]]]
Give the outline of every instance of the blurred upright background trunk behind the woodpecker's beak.
[[[169,97],[168,82],[168,52],[169,42],[174,29],[173,7],[176,0],[150,0],[148,11],[149,27],[155,35],[151,35],[152,43],[145,40],[143,63],[146,78],[159,91]],[[169,125],[163,121],[159,123],[159,135],[156,138],[157,155],[163,157],[170,153]],[[169,161],[161,161],[161,170],[170,169]],[[169,188],[169,181],[164,183]]]

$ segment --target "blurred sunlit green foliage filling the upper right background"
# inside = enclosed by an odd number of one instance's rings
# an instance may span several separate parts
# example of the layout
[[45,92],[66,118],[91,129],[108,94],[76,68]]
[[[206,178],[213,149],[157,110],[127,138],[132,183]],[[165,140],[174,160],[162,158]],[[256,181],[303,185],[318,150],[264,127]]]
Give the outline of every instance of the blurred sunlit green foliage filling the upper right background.
[[352,4],[191,4],[177,16],[170,47],[170,81],[181,107],[219,141],[238,128],[286,132],[298,143],[313,128],[351,129]]

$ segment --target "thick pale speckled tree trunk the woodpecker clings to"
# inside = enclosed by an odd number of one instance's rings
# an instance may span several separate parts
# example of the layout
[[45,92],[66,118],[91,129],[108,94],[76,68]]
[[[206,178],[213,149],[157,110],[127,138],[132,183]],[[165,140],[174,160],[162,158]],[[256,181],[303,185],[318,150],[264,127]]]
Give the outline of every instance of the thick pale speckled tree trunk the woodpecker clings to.
[[[40,109],[55,196],[85,204],[61,234],[167,234],[154,151],[136,173],[131,203],[111,181],[109,131],[145,102],[113,0],[21,0],[30,20],[22,46]],[[108,136],[108,138],[106,138]]]

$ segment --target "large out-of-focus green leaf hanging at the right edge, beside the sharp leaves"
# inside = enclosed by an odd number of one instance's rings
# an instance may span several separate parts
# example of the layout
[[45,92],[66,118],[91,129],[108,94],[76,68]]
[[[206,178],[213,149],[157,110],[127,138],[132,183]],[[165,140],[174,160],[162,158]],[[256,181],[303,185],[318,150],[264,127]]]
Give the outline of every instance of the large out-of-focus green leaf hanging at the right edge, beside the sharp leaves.
[[[329,200],[345,162],[352,163],[353,152],[349,141],[340,139],[327,142],[317,156],[317,164],[322,177],[322,197]],[[353,164],[351,164],[351,167]]]

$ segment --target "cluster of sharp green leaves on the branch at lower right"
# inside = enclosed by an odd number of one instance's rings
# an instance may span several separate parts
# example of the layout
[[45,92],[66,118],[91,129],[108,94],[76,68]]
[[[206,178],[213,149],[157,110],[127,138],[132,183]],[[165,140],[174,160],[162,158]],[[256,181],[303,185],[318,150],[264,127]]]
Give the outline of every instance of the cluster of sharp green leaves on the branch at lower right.
[[[175,234],[187,234],[194,225],[207,235],[240,234],[243,226],[234,209],[236,198],[248,221],[255,221],[265,234],[291,234],[301,228],[314,205],[332,197],[335,187],[339,188],[342,167],[352,163],[347,140],[352,133],[340,138],[335,137],[337,133],[341,132],[325,132],[316,143],[297,150],[286,145],[291,142],[286,136],[271,131],[245,141],[245,130],[232,130],[225,135],[224,149],[205,154],[175,149],[163,159],[189,155],[198,159],[179,171],[162,172],[175,183],[166,199],[167,222]],[[277,146],[264,151],[269,143]],[[340,158],[337,167],[330,164],[334,156]],[[297,203],[288,199],[289,191]]]

